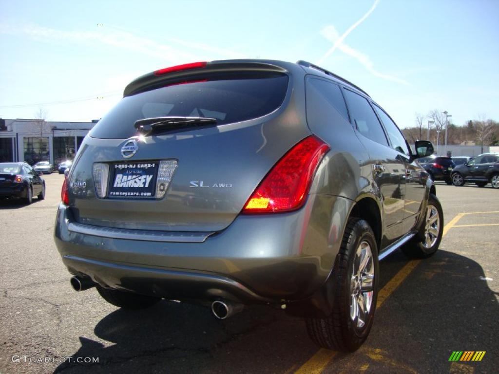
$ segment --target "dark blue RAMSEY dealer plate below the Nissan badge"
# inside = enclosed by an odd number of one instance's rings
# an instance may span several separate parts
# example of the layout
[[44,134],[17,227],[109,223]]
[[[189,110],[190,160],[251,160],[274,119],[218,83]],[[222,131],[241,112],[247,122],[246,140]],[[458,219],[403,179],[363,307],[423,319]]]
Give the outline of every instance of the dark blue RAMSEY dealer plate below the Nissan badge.
[[155,199],[159,161],[136,161],[110,164],[107,197]]

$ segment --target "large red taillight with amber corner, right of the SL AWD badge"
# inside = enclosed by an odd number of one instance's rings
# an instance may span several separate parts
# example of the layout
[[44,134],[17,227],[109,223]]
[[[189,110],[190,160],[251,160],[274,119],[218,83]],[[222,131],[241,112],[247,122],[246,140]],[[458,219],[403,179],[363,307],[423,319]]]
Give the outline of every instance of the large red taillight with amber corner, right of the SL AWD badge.
[[286,153],[253,192],[243,213],[282,212],[305,202],[315,170],[329,146],[309,136]]

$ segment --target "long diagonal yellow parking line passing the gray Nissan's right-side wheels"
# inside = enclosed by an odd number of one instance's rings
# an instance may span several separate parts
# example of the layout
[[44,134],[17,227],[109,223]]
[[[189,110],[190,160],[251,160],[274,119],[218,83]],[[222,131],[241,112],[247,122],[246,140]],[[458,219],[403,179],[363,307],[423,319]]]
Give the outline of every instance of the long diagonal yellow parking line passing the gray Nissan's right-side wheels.
[[[465,213],[459,213],[444,226],[442,237],[447,234],[447,231],[449,231],[449,229],[454,226],[464,214]],[[398,271],[397,274],[395,274],[392,279],[390,279],[390,281],[379,291],[376,308],[379,308],[381,307],[381,305],[383,305],[388,296],[390,296],[393,291],[397,289],[397,287],[404,281],[404,279],[406,279],[407,276],[416,268],[420,261],[421,260],[409,261],[404,265],[402,269]],[[303,364],[295,372],[295,374],[320,374],[326,368],[327,364],[329,364],[329,362],[334,358],[334,356],[336,356],[336,354],[336,351],[330,351],[321,348],[305,364]]]

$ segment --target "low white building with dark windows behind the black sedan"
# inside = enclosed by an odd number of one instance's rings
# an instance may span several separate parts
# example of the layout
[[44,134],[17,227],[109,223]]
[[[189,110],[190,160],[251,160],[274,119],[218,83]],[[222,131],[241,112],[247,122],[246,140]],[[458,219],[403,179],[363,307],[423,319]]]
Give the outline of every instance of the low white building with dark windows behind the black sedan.
[[72,160],[85,135],[98,122],[49,122],[37,119],[0,119],[0,162],[31,165]]

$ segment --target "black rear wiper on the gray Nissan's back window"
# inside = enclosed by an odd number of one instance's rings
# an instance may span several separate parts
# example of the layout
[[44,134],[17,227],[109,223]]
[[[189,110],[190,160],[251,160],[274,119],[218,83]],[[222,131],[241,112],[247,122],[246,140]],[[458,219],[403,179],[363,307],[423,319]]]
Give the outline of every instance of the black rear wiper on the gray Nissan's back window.
[[139,133],[149,135],[159,131],[185,130],[191,127],[212,125],[216,123],[216,118],[208,117],[155,117],[135,121],[134,126]]

